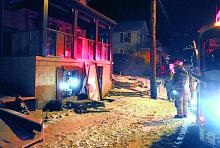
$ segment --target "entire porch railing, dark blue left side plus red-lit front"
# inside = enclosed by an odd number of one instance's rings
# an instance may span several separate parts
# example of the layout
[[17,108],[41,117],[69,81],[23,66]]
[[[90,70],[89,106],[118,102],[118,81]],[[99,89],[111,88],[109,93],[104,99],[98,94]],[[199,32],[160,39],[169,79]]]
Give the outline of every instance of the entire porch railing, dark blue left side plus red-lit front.
[[[97,61],[110,60],[110,45],[77,37],[74,46],[72,34],[57,30],[47,30],[47,56],[58,56]],[[40,55],[40,31],[16,32],[12,35],[12,55]]]

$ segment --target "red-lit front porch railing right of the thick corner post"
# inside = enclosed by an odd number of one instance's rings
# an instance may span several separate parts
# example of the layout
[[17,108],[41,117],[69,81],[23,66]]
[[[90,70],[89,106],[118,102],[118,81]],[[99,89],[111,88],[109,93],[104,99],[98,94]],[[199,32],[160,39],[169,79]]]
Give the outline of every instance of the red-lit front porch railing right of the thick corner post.
[[[97,61],[110,60],[110,45],[102,42],[96,43],[83,37],[75,40],[75,51],[73,52],[73,35],[60,31],[48,29],[48,54],[61,57],[73,57],[75,59],[88,59]],[[96,46],[97,45],[97,46]]]

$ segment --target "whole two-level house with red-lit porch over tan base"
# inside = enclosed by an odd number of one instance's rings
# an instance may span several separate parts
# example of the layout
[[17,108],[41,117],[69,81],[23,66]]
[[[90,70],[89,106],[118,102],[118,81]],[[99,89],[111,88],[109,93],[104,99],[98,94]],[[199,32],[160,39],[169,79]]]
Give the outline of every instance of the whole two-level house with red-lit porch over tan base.
[[0,9],[0,94],[35,96],[42,107],[110,90],[115,21],[86,0],[1,0]]

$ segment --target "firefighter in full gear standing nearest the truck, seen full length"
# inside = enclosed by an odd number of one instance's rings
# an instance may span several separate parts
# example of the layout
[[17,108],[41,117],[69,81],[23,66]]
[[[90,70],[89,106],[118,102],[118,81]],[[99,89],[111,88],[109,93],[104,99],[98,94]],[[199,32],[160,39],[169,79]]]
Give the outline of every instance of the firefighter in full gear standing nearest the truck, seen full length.
[[187,117],[188,96],[190,93],[189,75],[183,67],[183,63],[181,61],[175,62],[174,69],[175,73],[172,80],[172,88],[176,92],[175,104],[177,108],[177,115],[175,118],[185,118]]

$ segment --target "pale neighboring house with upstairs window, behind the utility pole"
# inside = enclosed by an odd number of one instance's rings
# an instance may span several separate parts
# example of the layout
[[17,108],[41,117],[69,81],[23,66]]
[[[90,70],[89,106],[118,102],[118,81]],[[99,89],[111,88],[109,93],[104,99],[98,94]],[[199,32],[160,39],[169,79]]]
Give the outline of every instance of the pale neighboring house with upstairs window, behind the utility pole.
[[134,53],[150,47],[150,34],[144,20],[119,22],[113,32],[114,53]]

